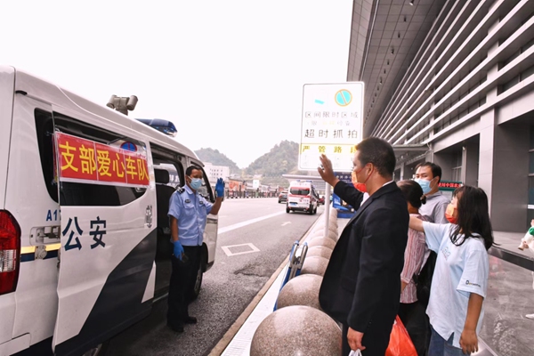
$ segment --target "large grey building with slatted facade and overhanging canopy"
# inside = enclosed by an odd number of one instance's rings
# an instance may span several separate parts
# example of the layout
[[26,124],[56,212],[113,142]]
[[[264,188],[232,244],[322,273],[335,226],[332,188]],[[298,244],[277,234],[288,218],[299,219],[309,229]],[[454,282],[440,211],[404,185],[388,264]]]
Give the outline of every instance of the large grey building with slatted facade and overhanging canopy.
[[425,160],[478,186],[495,231],[534,218],[534,1],[356,0],[348,81],[396,179]]

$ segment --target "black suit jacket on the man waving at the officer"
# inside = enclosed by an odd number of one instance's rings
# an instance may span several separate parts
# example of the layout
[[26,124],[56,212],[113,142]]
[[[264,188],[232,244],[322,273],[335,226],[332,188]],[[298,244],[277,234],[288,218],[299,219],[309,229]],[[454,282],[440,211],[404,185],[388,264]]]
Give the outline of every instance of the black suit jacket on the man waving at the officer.
[[[349,204],[362,197],[345,182],[338,182],[334,192]],[[407,202],[395,182],[376,190],[360,206],[325,271],[319,295],[323,311],[363,333],[371,323],[385,323],[385,330],[391,331],[401,298],[408,224]]]

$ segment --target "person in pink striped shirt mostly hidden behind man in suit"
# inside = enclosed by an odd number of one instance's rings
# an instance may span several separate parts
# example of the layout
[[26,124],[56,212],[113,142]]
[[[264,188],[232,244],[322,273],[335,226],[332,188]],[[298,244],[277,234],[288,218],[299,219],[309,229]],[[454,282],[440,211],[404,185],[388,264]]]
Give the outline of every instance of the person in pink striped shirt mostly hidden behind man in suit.
[[[419,214],[419,208],[425,204],[426,197],[421,186],[415,181],[397,182],[402,195],[406,198],[410,217],[416,217],[425,221],[425,217]],[[426,339],[430,328],[428,317],[425,314],[425,305],[417,300],[417,287],[414,282],[414,274],[421,271],[425,259],[425,234],[421,231],[409,229],[408,244],[404,252],[404,268],[401,272],[401,305],[399,306],[399,318],[408,331],[412,343],[416,347],[418,355],[425,355]]]

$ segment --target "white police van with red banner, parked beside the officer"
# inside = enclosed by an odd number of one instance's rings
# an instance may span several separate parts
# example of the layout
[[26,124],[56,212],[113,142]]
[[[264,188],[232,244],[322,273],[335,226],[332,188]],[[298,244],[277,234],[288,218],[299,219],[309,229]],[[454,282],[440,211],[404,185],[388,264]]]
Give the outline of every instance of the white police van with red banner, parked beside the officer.
[[[191,164],[166,134],[0,65],[0,355],[93,354],[146,317],[171,271],[168,166],[182,186]],[[209,215],[196,294],[216,239]]]

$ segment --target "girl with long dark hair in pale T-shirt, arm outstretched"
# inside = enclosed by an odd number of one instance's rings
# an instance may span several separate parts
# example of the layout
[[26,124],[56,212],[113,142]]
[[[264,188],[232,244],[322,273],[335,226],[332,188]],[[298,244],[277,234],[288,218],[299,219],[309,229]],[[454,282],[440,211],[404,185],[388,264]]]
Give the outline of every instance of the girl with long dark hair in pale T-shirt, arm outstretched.
[[464,186],[454,191],[447,207],[449,224],[410,217],[409,227],[424,231],[426,244],[438,255],[426,309],[432,327],[428,356],[478,351],[490,268],[487,251],[494,244],[488,212],[484,190]]

